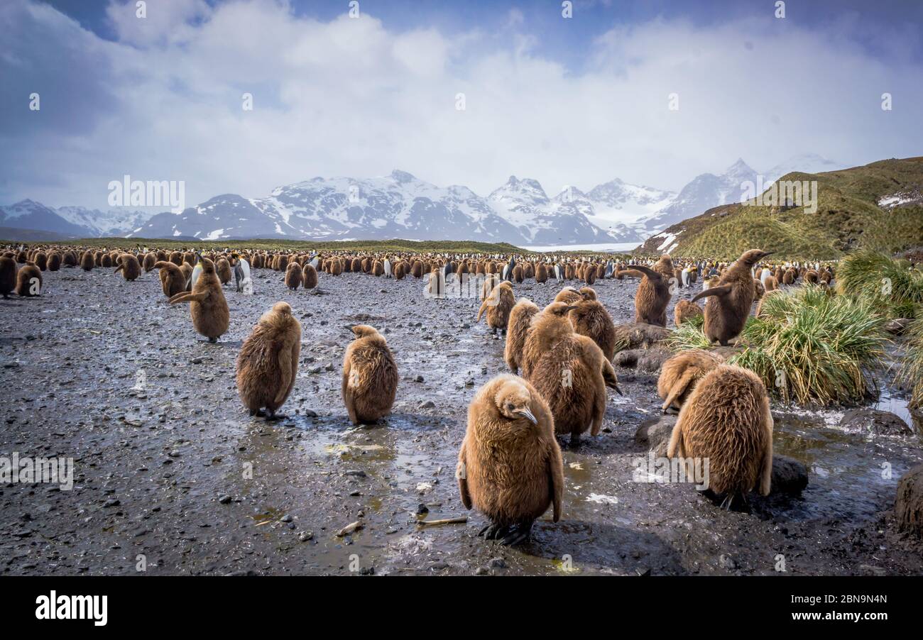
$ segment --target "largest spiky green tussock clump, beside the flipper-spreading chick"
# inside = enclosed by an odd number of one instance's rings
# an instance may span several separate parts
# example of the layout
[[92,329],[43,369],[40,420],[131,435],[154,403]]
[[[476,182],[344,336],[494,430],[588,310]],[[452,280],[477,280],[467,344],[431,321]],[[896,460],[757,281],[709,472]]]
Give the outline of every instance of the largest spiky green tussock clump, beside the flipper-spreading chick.
[[887,338],[868,301],[805,286],[771,296],[762,309],[741,334],[746,348],[729,362],[759,375],[770,394],[826,406],[860,401],[873,388],[870,372]]

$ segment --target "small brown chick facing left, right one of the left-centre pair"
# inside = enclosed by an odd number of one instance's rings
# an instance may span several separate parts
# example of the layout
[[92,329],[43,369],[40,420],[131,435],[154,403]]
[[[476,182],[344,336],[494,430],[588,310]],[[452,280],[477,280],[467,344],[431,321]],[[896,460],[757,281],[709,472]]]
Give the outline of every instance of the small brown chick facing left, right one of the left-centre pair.
[[355,339],[343,357],[342,397],[353,424],[377,421],[388,414],[398,388],[394,355],[373,326],[353,327]]

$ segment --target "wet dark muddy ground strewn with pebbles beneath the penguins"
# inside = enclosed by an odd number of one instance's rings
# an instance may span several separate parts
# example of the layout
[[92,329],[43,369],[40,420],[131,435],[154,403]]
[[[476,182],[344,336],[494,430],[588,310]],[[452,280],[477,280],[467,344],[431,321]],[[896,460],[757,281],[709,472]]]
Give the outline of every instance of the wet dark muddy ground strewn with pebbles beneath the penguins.
[[[216,345],[187,305],[166,304],[156,272],[126,282],[65,269],[44,274],[41,298],[0,302],[0,456],[76,466],[72,491],[0,485],[0,572],[923,573],[919,544],[889,513],[898,478],[923,459],[918,433],[773,407],[776,452],[809,468],[809,486],[728,513],[689,484],[634,481],[647,456],[635,433],[659,417],[660,400],[654,374],[624,368],[626,395],[610,397],[604,433],[563,447],[562,520],[546,515],[521,548],[478,539],[484,519],[461,504],[455,460],[468,401],[505,371],[503,341],[473,322],[479,302],[427,299],[414,279],[321,274],[322,294],[311,295],[286,290],[280,273],[254,276],[256,295],[225,289],[232,326]],[[636,286],[596,283],[616,322],[631,319]],[[515,289],[542,306],[559,286]],[[301,319],[302,359],[288,418],[266,422],[242,408],[234,360],[279,300]],[[385,333],[402,378],[393,414],[356,428],[340,367],[346,327],[359,322]]]

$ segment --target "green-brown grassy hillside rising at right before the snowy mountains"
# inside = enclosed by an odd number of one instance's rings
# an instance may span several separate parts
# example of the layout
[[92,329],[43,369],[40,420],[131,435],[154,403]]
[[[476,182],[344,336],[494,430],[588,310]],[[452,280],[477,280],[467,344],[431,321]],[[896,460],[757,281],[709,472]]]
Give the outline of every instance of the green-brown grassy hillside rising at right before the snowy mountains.
[[[832,260],[857,248],[891,254],[923,244],[923,157],[837,172],[793,172],[780,180],[817,181],[817,211],[752,201],[714,207],[648,239],[639,253],[661,253],[666,233],[676,236],[672,255],[725,260],[754,247],[781,258]],[[878,205],[881,198],[897,193],[912,202],[893,208]]]

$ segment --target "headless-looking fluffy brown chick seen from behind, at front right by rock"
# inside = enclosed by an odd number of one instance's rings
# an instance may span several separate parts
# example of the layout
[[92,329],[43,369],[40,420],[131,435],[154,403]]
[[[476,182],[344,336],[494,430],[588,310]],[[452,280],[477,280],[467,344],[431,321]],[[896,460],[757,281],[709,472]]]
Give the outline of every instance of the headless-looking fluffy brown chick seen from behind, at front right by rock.
[[768,495],[773,475],[773,415],[755,373],[719,364],[705,375],[679,411],[667,457],[708,460],[708,489],[731,508],[753,489]]

